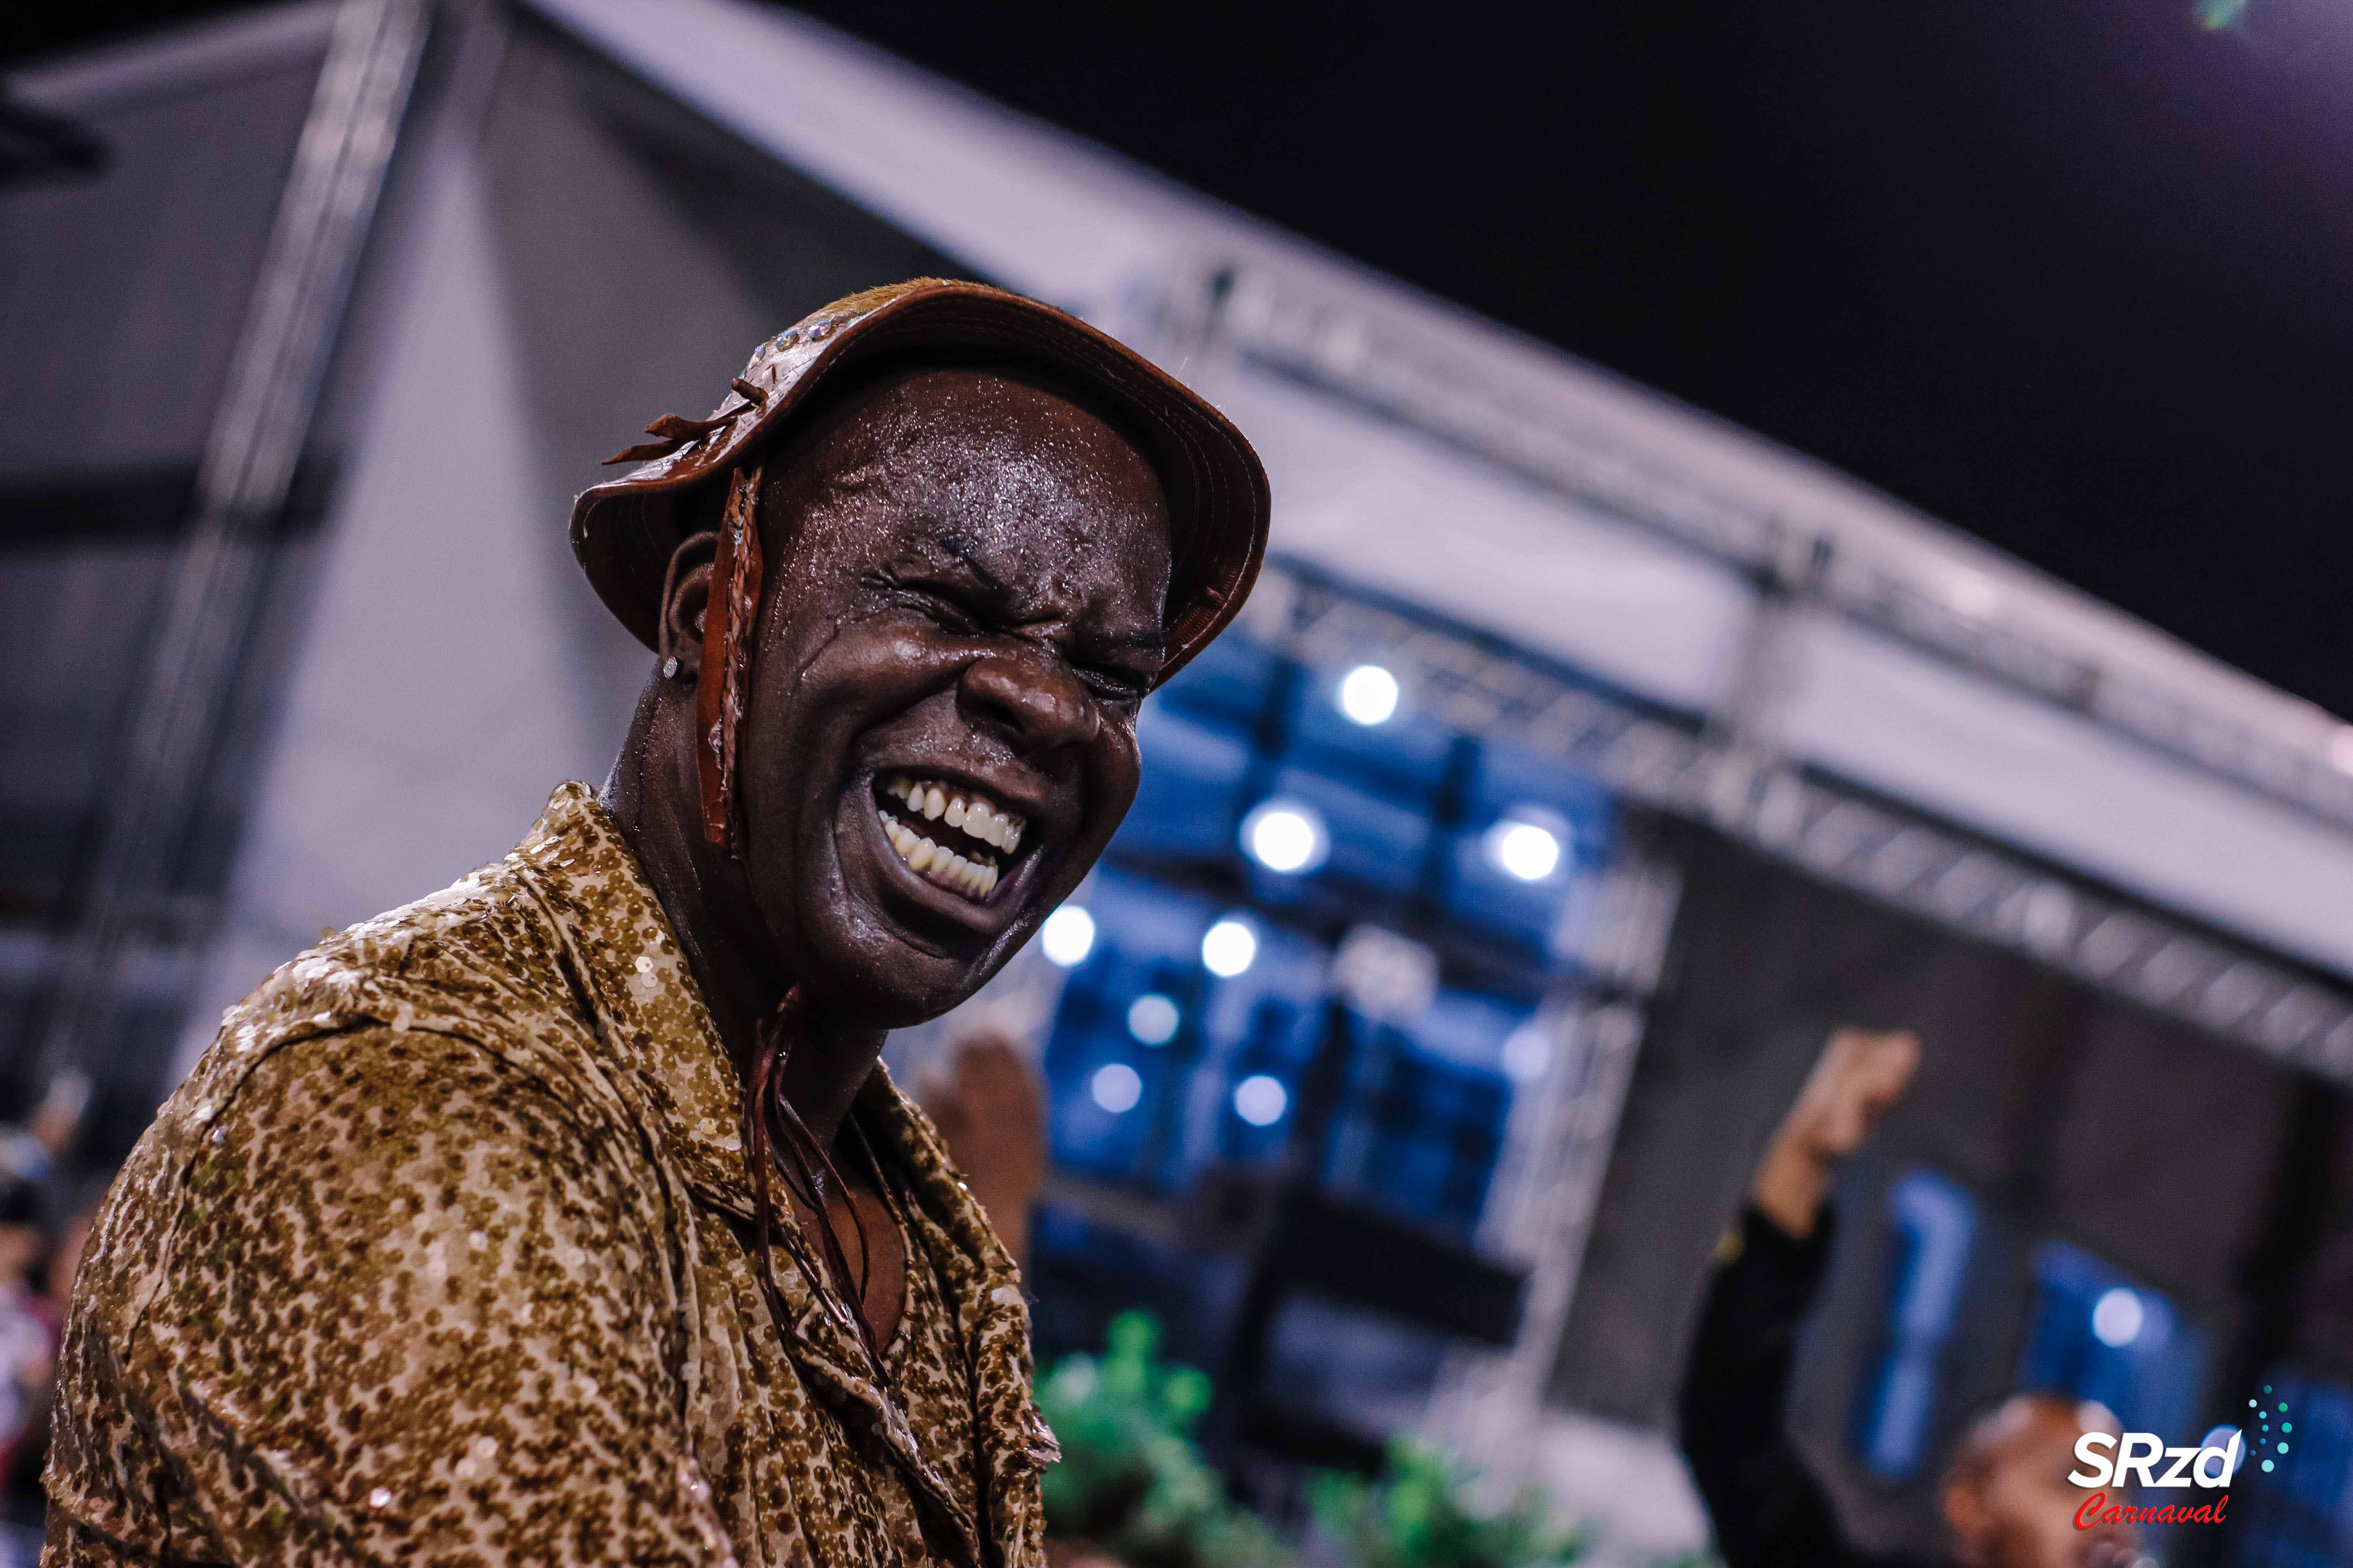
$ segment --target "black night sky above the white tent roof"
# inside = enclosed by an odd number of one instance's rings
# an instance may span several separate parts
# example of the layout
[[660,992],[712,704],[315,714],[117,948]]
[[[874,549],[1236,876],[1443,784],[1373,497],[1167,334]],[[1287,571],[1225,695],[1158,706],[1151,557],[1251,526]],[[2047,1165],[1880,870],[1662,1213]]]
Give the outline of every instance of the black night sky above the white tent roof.
[[2334,0],[800,9],[2353,715]]

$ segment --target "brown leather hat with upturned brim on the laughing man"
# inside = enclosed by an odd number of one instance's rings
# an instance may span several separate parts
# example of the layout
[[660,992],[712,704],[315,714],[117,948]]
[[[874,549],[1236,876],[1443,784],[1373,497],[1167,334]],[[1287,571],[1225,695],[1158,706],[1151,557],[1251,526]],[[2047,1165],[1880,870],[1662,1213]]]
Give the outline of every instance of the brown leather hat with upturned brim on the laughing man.
[[915,277],[838,299],[779,331],[711,418],[654,421],[647,435],[664,440],[614,458],[652,461],[581,491],[572,503],[572,552],[621,625],[656,646],[671,552],[718,520],[718,505],[687,505],[696,491],[774,442],[828,371],[925,348],[1059,371],[1125,416],[1169,503],[1169,661],[1160,679],[1233,621],[1266,555],[1268,512],[1266,470],[1242,433],[1158,364],[1073,315],[979,282]]

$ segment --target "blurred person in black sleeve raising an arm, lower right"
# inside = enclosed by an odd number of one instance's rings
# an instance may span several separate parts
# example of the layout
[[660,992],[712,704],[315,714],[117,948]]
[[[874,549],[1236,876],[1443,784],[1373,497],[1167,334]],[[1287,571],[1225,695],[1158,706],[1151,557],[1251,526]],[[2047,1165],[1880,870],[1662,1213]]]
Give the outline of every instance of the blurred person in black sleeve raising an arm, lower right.
[[2122,1568],[2129,1526],[2075,1528],[2075,1439],[2113,1418],[2017,1394],[1972,1422],[1939,1490],[1951,1559],[1864,1552],[1788,1436],[1798,1331],[1831,1255],[1828,1192],[1920,1067],[1906,1032],[1838,1030],[1725,1237],[1682,1382],[1682,1453],[1729,1568]]

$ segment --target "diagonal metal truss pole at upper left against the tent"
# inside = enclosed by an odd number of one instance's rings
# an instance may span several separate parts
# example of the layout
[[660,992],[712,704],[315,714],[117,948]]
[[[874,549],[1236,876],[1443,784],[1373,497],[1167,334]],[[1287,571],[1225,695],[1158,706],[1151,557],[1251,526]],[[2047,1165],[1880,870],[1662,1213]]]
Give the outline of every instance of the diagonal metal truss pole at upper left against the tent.
[[428,26],[428,0],[344,0],[336,12],[205,442],[195,515],[118,736],[35,1084],[99,1048],[115,1020],[125,947],[165,912]]

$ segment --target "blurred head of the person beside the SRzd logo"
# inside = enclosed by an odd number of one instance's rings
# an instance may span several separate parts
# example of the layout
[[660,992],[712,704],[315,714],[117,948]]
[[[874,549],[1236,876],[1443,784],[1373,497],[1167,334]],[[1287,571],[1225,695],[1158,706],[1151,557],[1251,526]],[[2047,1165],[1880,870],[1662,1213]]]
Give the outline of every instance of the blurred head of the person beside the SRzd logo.
[[2092,1495],[2066,1479],[2082,1432],[2057,1403],[2033,1406],[1972,1476],[1953,1479],[1946,1519],[1969,1563],[2122,1568],[2134,1559],[2132,1526],[2075,1528],[2075,1509]]

